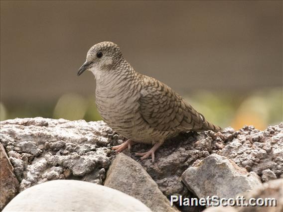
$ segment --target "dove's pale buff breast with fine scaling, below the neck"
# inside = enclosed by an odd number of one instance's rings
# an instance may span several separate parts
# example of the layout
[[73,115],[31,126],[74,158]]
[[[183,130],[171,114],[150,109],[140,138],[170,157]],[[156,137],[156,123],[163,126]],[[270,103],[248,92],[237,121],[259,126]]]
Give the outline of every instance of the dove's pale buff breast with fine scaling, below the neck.
[[139,112],[139,86],[131,84],[97,85],[96,105],[104,121],[125,137],[146,128]]

